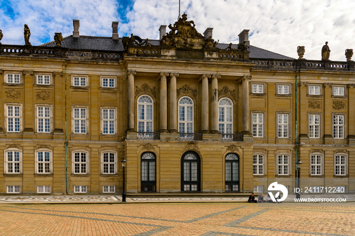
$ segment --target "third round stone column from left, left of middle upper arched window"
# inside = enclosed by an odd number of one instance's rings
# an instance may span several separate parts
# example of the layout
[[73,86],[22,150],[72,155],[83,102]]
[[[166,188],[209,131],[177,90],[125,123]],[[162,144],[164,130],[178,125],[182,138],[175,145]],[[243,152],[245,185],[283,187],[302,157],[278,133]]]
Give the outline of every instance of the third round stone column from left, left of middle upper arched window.
[[170,132],[177,132],[176,77],[179,73],[170,73]]

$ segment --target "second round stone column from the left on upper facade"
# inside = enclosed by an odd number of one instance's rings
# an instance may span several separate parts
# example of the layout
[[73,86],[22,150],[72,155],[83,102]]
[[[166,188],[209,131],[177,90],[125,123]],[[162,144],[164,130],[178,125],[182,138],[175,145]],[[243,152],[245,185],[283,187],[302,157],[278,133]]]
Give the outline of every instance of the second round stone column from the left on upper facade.
[[160,73],[160,132],[167,132],[168,130],[166,76],[169,76],[169,73]]

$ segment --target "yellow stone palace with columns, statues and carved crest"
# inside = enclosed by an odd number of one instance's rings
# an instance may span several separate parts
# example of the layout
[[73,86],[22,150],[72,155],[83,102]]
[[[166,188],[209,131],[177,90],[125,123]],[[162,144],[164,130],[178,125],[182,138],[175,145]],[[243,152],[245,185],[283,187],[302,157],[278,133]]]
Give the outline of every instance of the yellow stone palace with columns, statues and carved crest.
[[123,156],[129,194],[292,191],[298,159],[312,186],[355,191],[350,59],[283,56],[248,30],[217,43],[185,14],[159,40],[73,24],[58,43],[0,45],[1,194],[122,192]]

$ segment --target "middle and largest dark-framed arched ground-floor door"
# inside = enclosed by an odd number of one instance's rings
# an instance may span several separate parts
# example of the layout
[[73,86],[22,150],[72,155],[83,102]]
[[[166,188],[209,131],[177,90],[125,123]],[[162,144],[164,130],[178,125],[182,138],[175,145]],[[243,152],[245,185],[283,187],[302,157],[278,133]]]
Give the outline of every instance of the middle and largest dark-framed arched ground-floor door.
[[200,191],[200,158],[193,151],[181,158],[181,190]]

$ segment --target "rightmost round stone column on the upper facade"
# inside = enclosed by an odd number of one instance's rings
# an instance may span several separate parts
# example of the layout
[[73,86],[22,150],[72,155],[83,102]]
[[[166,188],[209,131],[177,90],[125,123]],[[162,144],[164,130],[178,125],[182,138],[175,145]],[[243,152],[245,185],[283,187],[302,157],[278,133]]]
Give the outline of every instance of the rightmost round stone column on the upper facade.
[[250,114],[249,114],[249,85],[248,81],[252,79],[251,75],[244,75],[241,77],[241,130],[243,133],[250,133]]

